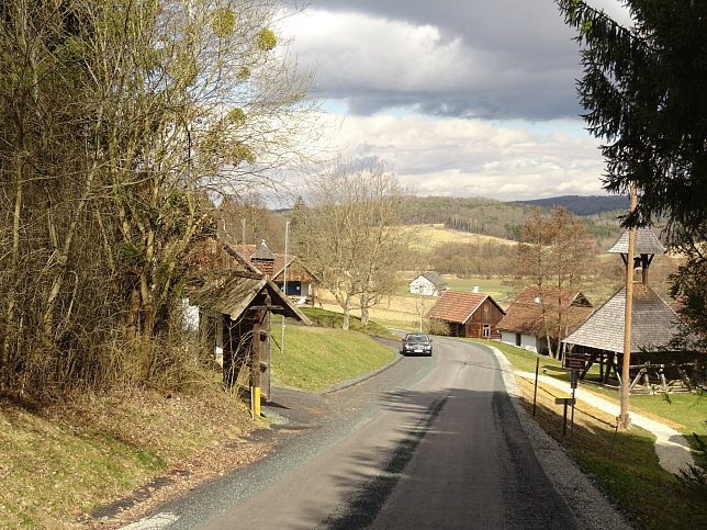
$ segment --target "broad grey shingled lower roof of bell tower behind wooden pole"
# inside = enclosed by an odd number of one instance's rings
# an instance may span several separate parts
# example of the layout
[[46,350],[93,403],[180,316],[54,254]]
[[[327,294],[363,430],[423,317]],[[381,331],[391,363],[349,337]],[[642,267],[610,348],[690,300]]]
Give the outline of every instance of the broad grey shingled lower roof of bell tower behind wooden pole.
[[[624,351],[626,287],[621,287],[564,342],[599,350]],[[678,331],[680,317],[648,285],[633,286],[631,353],[665,347]]]

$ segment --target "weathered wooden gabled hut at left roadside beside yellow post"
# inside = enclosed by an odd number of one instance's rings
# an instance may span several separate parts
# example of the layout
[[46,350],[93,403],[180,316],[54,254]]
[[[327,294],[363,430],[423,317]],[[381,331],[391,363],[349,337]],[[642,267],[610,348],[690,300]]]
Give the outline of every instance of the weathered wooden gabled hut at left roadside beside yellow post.
[[311,322],[260,270],[274,270],[266,250],[247,259],[222,233],[194,246],[184,313],[193,320],[187,327],[221,359],[224,384],[258,386],[269,399],[271,314]]

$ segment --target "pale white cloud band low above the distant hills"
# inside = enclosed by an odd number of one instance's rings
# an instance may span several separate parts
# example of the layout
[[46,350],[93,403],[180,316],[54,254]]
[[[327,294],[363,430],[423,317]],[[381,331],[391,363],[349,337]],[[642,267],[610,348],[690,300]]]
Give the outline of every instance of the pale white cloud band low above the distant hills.
[[348,116],[336,139],[345,158],[389,162],[419,195],[501,200],[602,194],[598,143],[479,120]]

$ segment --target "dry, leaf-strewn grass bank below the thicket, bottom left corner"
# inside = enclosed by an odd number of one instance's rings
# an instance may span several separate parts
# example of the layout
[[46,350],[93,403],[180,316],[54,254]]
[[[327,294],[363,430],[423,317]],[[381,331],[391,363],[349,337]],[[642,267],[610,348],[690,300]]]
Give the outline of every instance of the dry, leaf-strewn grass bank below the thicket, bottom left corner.
[[252,424],[224,393],[77,395],[33,411],[0,401],[0,528],[65,528]]

